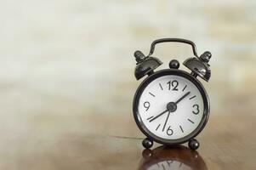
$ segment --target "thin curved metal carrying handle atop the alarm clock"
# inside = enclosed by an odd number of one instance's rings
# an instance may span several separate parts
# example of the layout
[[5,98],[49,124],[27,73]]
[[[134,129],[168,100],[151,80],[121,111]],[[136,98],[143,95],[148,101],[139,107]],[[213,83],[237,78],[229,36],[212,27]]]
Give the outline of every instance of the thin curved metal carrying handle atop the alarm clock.
[[182,38],[162,38],[157,39],[154,42],[151,43],[151,50],[148,56],[151,56],[151,54],[154,53],[156,43],[162,43],[162,42],[181,42],[181,43],[187,43],[192,46],[193,54],[198,58],[197,52],[196,52],[196,44],[194,42],[191,42],[190,40],[182,39]]

